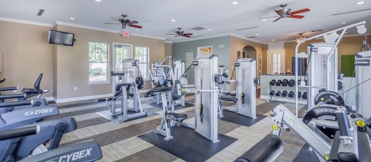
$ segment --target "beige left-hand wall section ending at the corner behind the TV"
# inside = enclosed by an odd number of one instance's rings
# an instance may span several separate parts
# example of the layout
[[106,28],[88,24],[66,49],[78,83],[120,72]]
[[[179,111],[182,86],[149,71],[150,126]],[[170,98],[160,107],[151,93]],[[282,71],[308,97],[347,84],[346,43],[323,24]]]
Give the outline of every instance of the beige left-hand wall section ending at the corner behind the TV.
[[[33,88],[40,73],[42,89],[53,94],[53,45],[47,43],[51,27],[0,21],[0,53],[3,54],[3,72],[6,82],[0,87]],[[3,94],[12,92],[1,92]],[[19,92],[18,92],[19,93]]]

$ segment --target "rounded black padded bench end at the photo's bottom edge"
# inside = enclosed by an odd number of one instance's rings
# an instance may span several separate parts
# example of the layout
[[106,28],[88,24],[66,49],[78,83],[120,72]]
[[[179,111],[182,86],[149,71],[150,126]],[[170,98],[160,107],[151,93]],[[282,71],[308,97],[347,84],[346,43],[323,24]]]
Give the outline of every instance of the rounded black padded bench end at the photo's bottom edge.
[[235,162],[274,161],[284,150],[281,139],[275,135],[267,135],[250,150],[235,159]]

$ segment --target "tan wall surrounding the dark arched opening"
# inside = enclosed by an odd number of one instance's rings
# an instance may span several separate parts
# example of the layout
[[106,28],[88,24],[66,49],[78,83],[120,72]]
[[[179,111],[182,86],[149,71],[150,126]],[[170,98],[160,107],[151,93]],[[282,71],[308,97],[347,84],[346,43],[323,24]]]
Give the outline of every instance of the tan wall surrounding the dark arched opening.
[[[245,39],[242,39],[242,38],[237,38],[235,36],[231,36],[230,38],[231,38],[231,40],[230,40],[230,56],[231,56],[230,65],[231,65],[231,67],[229,67],[229,70],[231,72],[233,71],[233,66],[235,65],[235,60],[237,58],[237,51],[241,51],[241,54],[242,54],[242,49],[246,45],[253,46],[256,49],[257,54],[262,54],[263,55],[263,49],[264,49],[263,44],[255,43],[253,41],[245,40]],[[265,64],[265,62],[262,61],[262,66],[263,67],[264,67],[264,64]],[[258,69],[257,69],[257,75],[258,75]],[[235,76],[236,75],[234,74],[233,79],[235,79]],[[231,90],[232,91],[235,90],[235,85],[234,84],[231,84]]]

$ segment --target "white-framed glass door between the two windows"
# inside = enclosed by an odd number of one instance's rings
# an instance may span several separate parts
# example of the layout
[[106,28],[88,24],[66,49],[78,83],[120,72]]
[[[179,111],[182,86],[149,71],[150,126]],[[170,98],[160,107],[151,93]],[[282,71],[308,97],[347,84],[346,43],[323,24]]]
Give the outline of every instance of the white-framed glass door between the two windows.
[[[125,59],[133,58],[133,45],[125,45],[125,44],[113,44],[113,52],[112,52],[112,71],[122,71],[122,61]],[[123,78],[118,76],[112,78],[112,89],[114,90],[117,83],[123,81]]]

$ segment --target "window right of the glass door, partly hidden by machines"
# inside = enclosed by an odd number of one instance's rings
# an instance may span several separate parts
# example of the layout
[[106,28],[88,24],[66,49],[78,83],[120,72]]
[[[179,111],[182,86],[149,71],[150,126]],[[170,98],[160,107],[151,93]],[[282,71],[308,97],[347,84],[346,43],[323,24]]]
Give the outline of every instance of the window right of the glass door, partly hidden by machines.
[[139,60],[139,70],[145,80],[149,80],[149,49],[147,47],[135,47],[135,59]]

